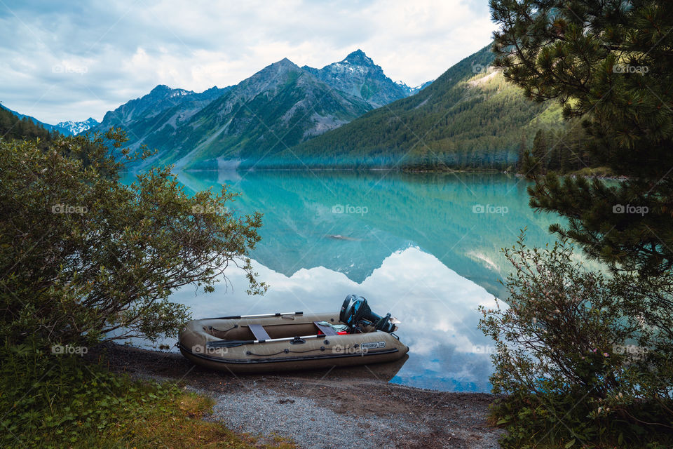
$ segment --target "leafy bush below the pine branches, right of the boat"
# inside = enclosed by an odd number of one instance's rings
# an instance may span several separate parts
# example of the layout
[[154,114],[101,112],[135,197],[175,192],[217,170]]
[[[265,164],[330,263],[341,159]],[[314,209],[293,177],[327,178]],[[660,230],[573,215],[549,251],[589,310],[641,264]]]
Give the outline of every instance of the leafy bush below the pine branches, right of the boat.
[[566,241],[531,250],[522,236],[505,256],[509,307],[480,321],[503,443],[673,443],[673,279],[589,271]]

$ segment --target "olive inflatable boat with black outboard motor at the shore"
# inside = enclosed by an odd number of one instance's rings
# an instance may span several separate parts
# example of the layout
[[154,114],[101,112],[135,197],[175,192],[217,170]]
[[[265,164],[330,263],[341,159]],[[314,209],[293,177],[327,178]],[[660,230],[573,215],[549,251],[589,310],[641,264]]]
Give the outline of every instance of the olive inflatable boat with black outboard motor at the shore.
[[348,295],[334,314],[301,311],[189,321],[178,346],[193,363],[232,373],[262,373],[395,361],[409,348],[395,335],[400,321],[374,314]]

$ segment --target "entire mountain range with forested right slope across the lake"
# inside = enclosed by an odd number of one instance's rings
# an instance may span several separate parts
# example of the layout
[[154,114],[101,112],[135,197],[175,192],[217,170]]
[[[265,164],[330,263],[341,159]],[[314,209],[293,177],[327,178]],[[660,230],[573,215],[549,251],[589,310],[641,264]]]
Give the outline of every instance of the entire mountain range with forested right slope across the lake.
[[138,168],[505,170],[522,142],[562,119],[557,105],[530,102],[505,82],[490,67],[490,47],[416,88],[392,81],[360,50],[322,69],[285,58],[224,90],[157,86],[97,129],[121,126],[132,149],[158,150]]

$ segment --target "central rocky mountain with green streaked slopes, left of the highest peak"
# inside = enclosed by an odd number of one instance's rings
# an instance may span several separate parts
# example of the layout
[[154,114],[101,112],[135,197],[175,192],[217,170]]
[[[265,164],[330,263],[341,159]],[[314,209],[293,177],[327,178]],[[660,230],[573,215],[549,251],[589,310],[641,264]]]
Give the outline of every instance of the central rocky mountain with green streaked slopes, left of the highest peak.
[[241,160],[254,164],[370,109],[365,100],[328,86],[285,58],[178,126],[155,128],[144,143],[159,151],[144,163],[177,163],[180,168],[217,168]]

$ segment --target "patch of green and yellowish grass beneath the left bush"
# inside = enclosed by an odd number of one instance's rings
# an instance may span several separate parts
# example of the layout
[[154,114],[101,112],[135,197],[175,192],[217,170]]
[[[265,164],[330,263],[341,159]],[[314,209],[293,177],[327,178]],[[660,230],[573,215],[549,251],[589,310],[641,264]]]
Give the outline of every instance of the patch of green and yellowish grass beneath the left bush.
[[2,448],[278,448],[203,420],[212,399],[173,382],[132,380],[80,356],[0,347]]

